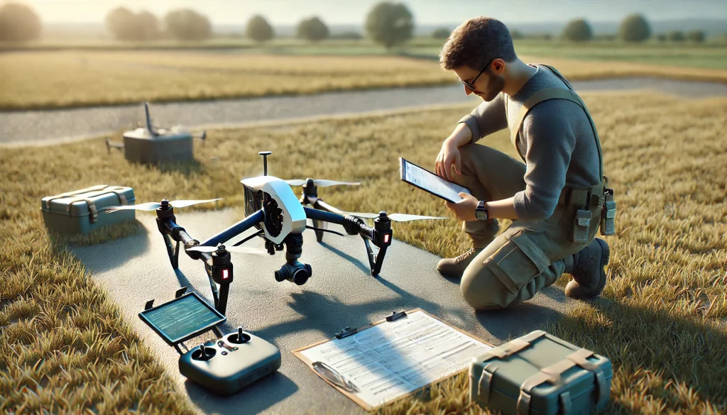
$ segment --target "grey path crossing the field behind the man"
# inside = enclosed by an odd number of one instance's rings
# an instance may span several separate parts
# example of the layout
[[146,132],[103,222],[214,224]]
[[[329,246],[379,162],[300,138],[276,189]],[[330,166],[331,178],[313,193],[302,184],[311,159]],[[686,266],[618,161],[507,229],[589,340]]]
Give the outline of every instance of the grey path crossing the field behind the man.
[[[662,78],[612,78],[574,81],[578,91],[653,89],[682,97],[727,97],[727,85],[712,82],[675,81]],[[287,118],[478,102],[467,97],[462,86],[375,89],[328,92],[295,97],[263,97],[204,102],[171,102],[152,105],[155,125],[238,125]],[[0,146],[47,145],[97,137],[135,128],[143,119],[142,105],[0,112]]]

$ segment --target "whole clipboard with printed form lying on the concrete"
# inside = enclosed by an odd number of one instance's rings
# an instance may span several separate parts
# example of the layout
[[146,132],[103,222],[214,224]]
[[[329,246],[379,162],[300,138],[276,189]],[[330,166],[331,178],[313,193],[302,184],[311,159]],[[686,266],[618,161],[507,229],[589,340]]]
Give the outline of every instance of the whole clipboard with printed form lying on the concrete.
[[366,411],[467,371],[494,346],[421,308],[293,350],[310,370]]

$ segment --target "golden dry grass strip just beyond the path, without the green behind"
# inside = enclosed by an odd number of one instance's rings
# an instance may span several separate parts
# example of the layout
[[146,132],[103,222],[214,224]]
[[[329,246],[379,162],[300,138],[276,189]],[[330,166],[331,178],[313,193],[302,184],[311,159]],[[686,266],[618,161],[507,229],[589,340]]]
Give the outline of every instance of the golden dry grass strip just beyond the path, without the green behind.
[[[537,49],[536,49],[537,50]],[[529,49],[530,52],[531,49]],[[435,54],[436,55],[436,54]],[[573,80],[662,76],[727,82],[727,70],[550,59]],[[456,83],[435,60],[395,56],[293,56],[198,51],[59,51],[0,54],[0,110]]]

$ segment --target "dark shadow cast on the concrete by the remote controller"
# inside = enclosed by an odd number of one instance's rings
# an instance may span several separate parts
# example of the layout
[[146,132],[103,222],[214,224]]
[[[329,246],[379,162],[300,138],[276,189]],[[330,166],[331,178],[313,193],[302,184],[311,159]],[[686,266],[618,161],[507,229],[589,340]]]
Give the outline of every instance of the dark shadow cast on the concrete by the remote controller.
[[226,397],[210,396],[209,391],[189,379],[184,384],[190,400],[205,414],[259,414],[298,390],[297,384],[279,371]]

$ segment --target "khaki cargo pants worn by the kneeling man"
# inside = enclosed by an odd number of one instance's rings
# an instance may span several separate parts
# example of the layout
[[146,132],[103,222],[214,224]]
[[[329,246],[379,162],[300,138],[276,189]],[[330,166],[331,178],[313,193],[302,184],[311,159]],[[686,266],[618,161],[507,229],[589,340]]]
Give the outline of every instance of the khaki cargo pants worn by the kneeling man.
[[[470,189],[478,200],[497,201],[525,190],[526,166],[521,161],[473,143],[459,151],[462,174],[455,173],[454,182]],[[555,283],[566,267],[564,259],[572,260],[568,257],[585,248],[598,231],[602,204],[598,196],[603,195],[603,185],[566,188],[551,217],[538,222],[515,220],[500,235],[497,219],[464,222],[462,229],[473,246],[484,247],[462,275],[460,288],[467,303],[475,310],[499,310],[531,299]],[[591,211],[585,243],[571,242],[577,209]]]

